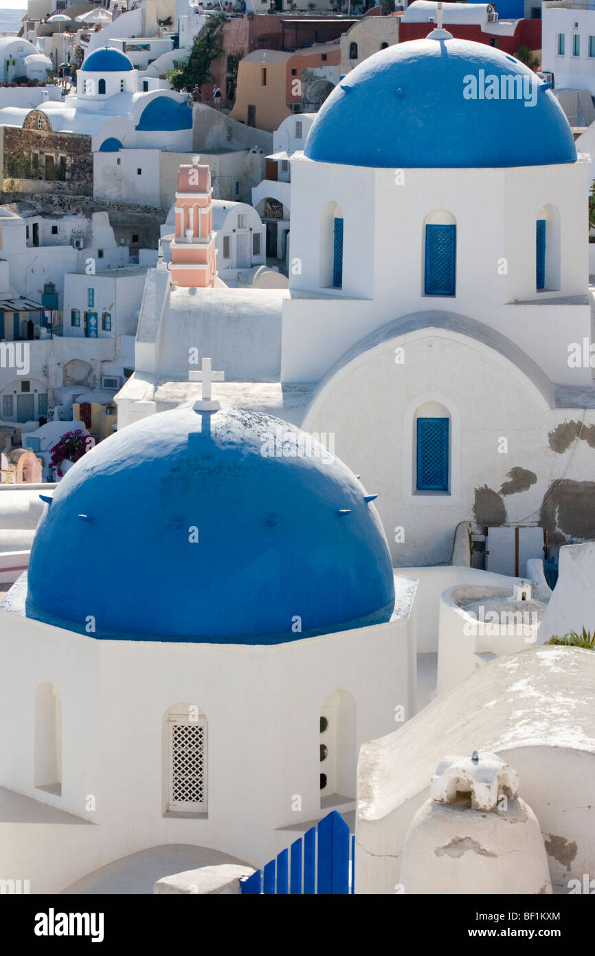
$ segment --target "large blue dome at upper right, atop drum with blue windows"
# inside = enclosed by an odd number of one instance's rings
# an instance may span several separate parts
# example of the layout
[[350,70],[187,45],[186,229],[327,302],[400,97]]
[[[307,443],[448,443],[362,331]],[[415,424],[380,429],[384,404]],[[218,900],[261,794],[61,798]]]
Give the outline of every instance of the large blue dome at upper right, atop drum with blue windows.
[[[466,98],[474,81],[477,98]],[[305,153],[321,163],[394,168],[577,159],[562,107],[528,67],[452,38],[398,43],[364,60],[323,103]]]

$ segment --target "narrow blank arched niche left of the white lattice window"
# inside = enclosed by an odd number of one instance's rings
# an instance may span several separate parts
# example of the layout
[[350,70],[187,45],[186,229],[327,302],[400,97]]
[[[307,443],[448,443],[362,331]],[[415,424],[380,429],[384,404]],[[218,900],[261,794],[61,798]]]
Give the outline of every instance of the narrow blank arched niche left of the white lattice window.
[[62,793],[62,706],[53,684],[44,681],[35,691],[33,784]]

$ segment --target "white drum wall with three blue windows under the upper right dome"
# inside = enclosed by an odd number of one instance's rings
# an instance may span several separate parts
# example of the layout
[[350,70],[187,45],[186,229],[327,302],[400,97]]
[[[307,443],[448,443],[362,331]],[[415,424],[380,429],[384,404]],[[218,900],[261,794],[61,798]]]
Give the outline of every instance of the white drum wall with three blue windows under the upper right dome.
[[[590,382],[590,369],[569,369],[566,360],[568,336],[581,341],[590,335],[588,307],[575,309],[570,324],[563,305],[544,305],[586,293],[588,164],[540,166],[539,176],[533,167],[407,169],[403,175],[406,184],[395,182],[393,169],[291,161],[290,256],[301,271],[290,270],[289,286],[342,301],[335,311],[328,299],[313,296],[306,315],[303,306],[287,304],[283,379],[319,380],[383,323],[439,309],[477,316],[516,342],[552,380]],[[340,290],[319,284],[321,257],[331,243],[321,215],[331,201],[344,218]],[[545,205],[560,211],[562,274],[558,290],[538,293],[535,222]],[[423,224],[434,209],[449,210],[457,221],[455,296],[423,293]],[[505,271],[499,269],[502,259]]]

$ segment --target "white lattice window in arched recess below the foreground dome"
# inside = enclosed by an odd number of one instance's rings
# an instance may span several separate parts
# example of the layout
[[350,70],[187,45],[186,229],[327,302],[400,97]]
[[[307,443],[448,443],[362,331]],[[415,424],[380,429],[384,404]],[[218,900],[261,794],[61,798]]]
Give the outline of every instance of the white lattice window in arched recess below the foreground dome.
[[203,814],[207,808],[207,722],[187,715],[167,718],[167,810]]

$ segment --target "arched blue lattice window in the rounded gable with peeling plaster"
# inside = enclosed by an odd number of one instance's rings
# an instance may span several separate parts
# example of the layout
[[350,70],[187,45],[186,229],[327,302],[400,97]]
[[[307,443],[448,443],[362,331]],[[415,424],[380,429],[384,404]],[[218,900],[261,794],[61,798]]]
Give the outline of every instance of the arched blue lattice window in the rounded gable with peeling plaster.
[[414,489],[448,494],[451,470],[451,420],[439,402],[425,402],[414,416]]

